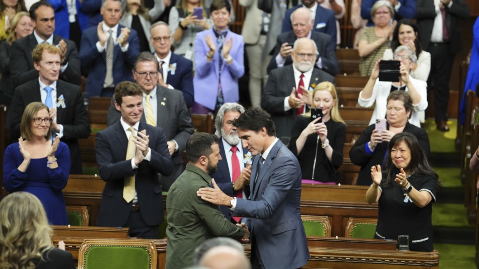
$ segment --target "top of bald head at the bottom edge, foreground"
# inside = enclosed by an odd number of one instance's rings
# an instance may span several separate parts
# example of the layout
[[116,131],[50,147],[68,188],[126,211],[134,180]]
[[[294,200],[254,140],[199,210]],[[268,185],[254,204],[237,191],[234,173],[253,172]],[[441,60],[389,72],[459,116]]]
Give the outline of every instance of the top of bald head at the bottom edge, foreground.
[[218,246],[206,251],[200,265],[211,269],[250,269],[249,261],[237,248]]

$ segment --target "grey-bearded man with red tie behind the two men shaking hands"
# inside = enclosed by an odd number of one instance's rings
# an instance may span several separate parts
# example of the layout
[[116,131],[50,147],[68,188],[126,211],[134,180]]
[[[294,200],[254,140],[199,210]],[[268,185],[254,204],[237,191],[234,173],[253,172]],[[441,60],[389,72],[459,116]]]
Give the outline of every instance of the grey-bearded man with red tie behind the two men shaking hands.
[[[219,154],[221,161],[217,171],[210,175],[218,187],[229,196],[248,198],[251,177],[251,153],[243,148],[238,130],[233,122],[238,119],[244,107],[239,103],[224,103],[218,109],[215,134],[219,138]],[[241,223],[241,217],[232,217],[228,207],[221,206],[223,215],[233,223]]]

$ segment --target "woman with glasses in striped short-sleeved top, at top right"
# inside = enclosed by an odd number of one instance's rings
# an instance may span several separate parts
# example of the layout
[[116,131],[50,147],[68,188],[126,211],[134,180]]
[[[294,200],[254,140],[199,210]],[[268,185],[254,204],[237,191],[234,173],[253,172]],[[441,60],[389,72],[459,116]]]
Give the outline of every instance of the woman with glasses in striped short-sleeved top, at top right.
[[381,59],[384,51],[389,48],[392,32],[396,21],[394,9],[388,0],[379,0],[372,5],[371,18],[374,26],[364,27],[359,35],[358,52],[359,74],[369,76],[374,63]]

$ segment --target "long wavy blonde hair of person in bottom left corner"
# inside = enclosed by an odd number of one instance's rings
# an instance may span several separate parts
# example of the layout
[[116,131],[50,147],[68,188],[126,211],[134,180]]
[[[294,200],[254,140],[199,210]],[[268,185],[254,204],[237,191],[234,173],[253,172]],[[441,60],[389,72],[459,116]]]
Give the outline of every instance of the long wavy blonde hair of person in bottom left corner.
[[52,228],[38,198],[18,191],[0,202],[0,268],[34,269],[53,248]]

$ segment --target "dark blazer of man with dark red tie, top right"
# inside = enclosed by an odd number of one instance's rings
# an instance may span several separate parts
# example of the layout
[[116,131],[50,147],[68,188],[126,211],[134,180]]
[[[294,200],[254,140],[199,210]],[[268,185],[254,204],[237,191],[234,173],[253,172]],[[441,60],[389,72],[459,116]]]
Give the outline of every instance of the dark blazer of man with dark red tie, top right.
[[[416,25],[419,29],[419,38],[422,47],[427,50],[431,42],[434,19],[436,16],[434,1],[416,0]],[[449,32],[449,47],[451,53],[457,53],[462,50],[459,18],[469,18],[471,10],[466,0],[454,0],[451,8],[446,7],[446,27]]]

